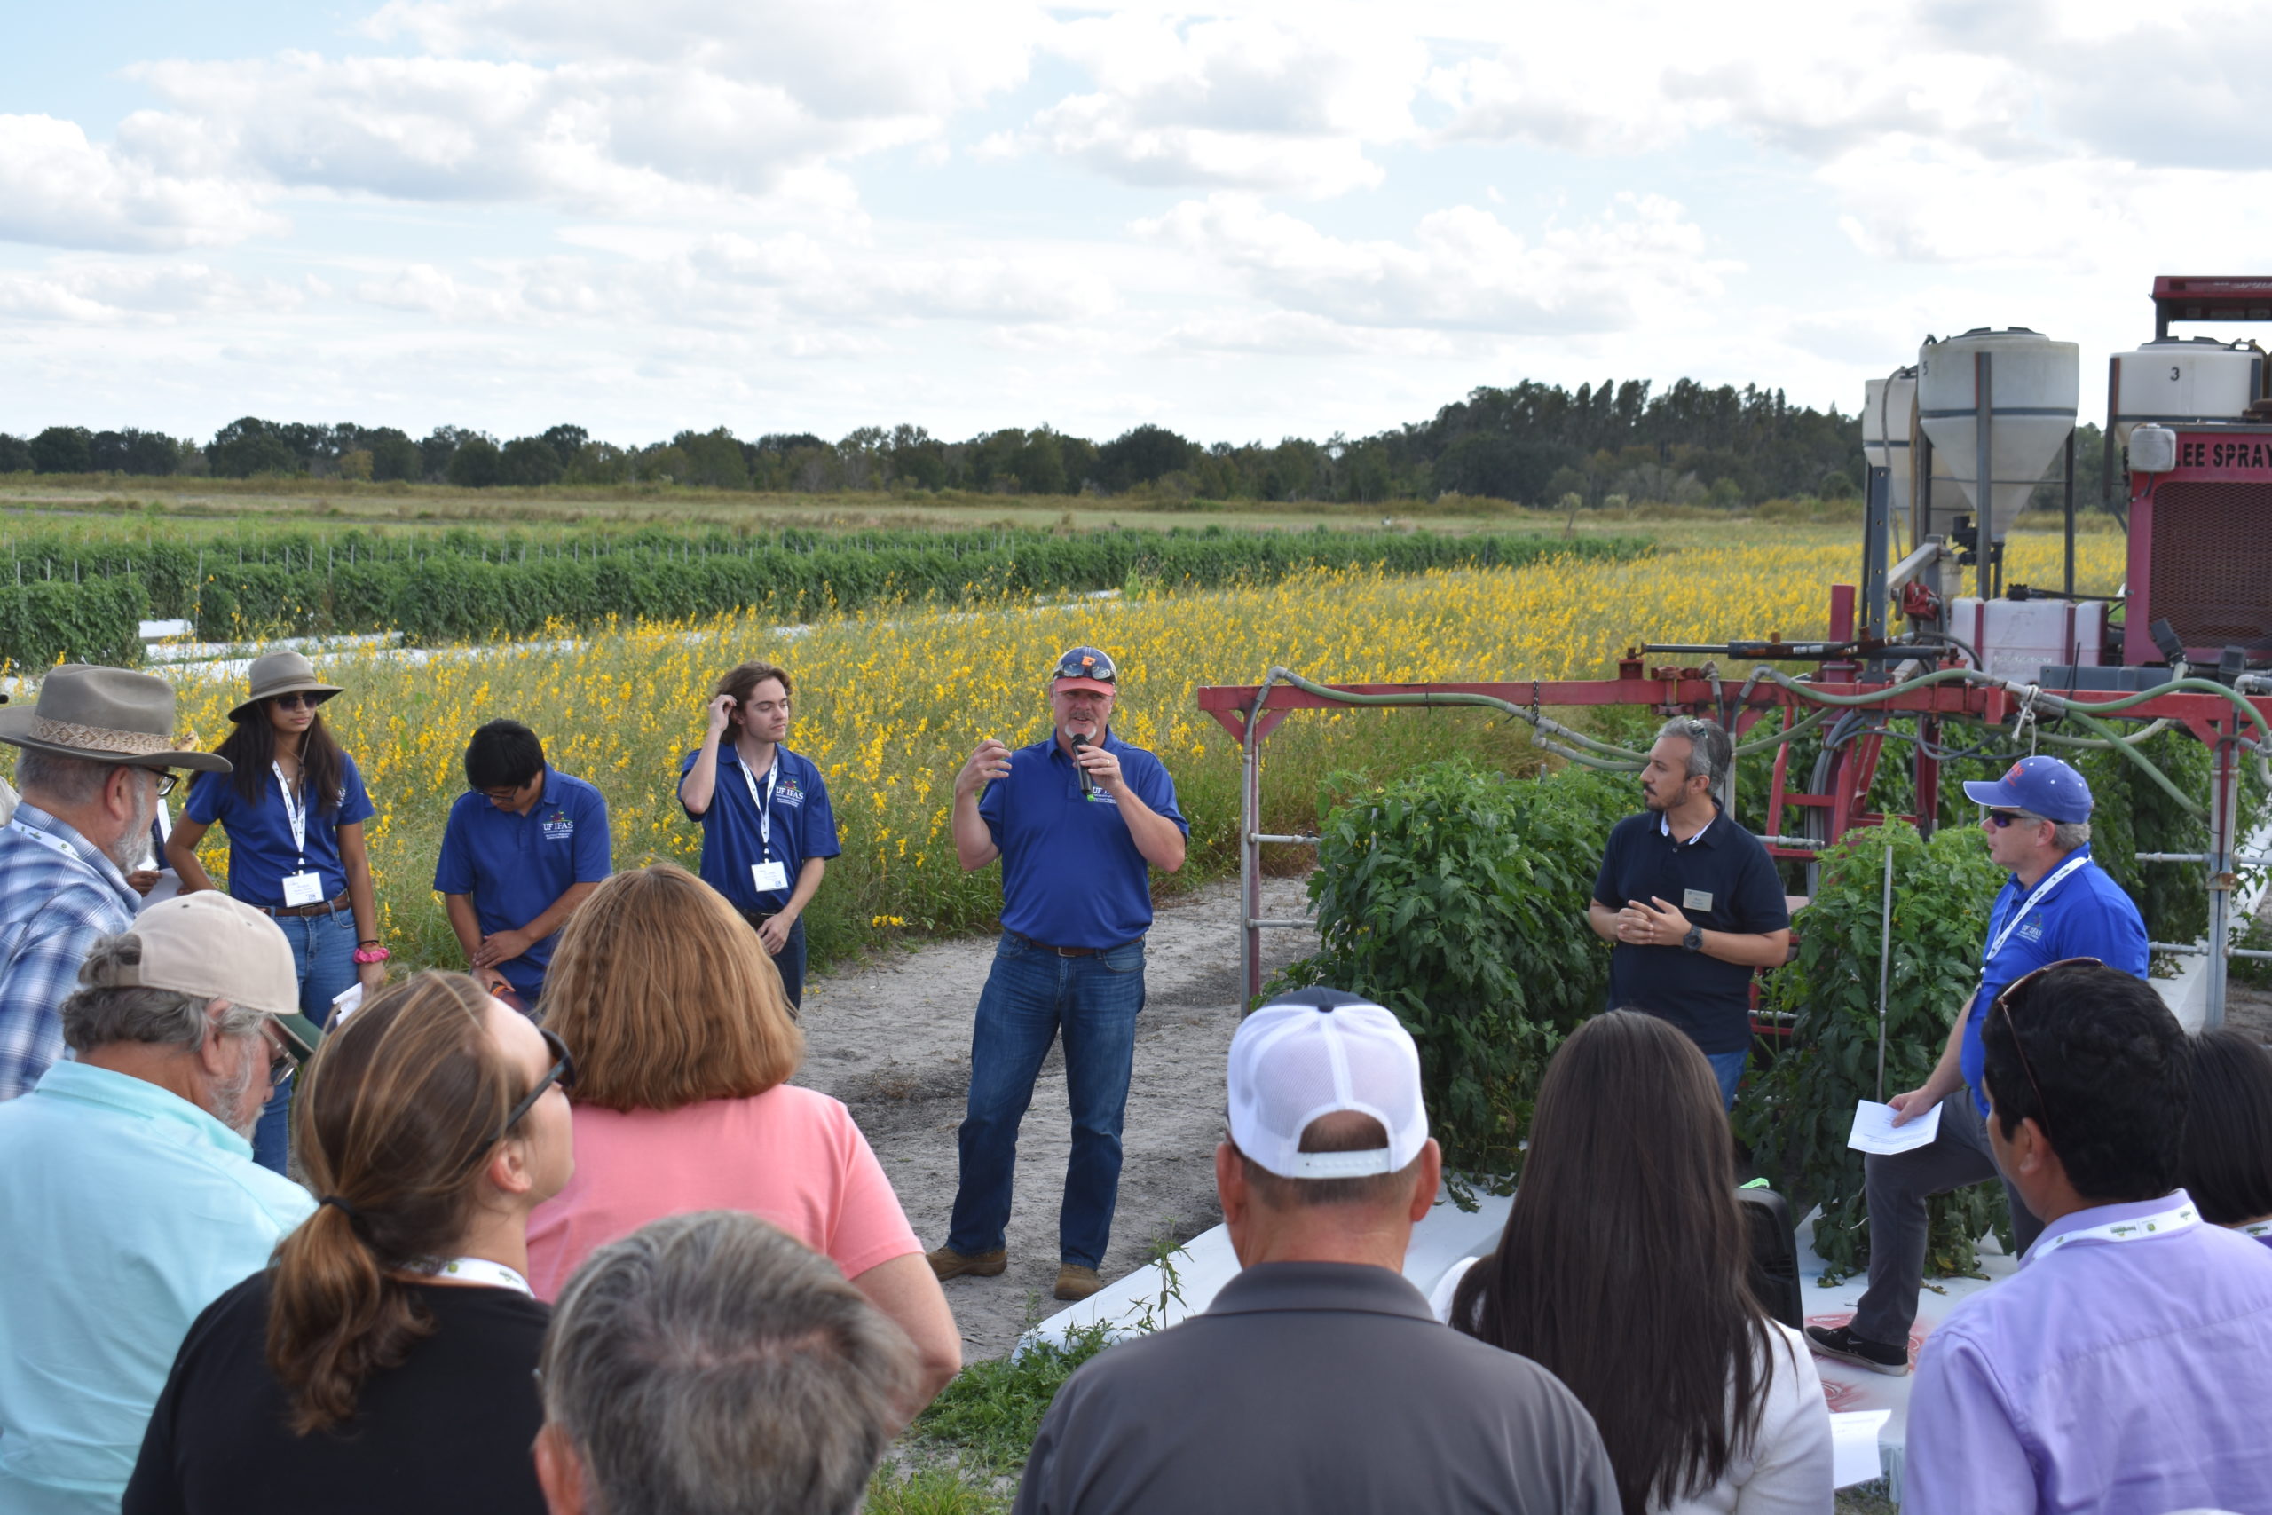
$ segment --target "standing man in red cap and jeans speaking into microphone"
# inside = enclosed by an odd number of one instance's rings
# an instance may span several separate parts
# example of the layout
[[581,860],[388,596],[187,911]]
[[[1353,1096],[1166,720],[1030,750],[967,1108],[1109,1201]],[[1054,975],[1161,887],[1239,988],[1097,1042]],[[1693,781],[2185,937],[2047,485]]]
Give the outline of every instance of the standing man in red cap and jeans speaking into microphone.
[[947,1245],[932,1252],[941,1279],[1009,1267],[1018,1124],[1063,1033],[1072,1154],[1054,1292],[1086,1299],[1102,1288],[1152,929],[1150,870],[1181,868],[1191,834],[1161,761],[1111,734],[1118,679],[1104,652],[1072,647],[1050,670],[1050,736],[1016,752],[988,738],[954,775],[957,856],[970,872],[1002,859],[1002,943],[970,1031],[961,1183]]

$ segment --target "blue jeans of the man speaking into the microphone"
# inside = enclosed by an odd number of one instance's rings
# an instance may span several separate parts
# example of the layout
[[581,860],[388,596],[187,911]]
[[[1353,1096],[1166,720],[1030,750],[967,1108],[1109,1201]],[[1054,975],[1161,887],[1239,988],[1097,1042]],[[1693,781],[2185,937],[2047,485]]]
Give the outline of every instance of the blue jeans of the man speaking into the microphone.
[[1002,1247],[1018,1122],[1034,1102],[1034,1077],[1059,1033],[1066,1038],[1066,1102],[1072,1154],[1056,1213],[1061,1263],[1100,1267],[1120,1199],[1120,1118],[1136,1065],[1136,1013],[1143,1011],[1143,943],[1091,959],[1059,956],[1016,931],[995,947],[970,1031],[970,1104],[961,1127],[961,1186],[947,1247],[975,1256]]

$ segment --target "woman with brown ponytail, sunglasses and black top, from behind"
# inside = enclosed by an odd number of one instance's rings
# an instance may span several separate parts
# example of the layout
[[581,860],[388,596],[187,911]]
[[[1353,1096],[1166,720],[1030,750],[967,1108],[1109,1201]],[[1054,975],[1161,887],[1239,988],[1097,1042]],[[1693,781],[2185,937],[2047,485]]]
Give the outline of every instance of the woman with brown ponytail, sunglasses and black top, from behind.
[[189,1329],[125,1515],[541,1515],[529,1211],[575,1068],[466,974],[350,1015],[293,1113],[316,1213]]

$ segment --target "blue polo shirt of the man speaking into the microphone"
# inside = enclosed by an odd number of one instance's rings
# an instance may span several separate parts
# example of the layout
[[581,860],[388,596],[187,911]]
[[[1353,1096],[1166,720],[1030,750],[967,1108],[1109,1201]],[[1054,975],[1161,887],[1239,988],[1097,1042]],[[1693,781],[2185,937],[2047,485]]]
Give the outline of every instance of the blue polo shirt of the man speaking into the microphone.
[[[1104,731],[1129,788],[1191,836],[1175,779],[1156,756]],[[1002,927],[1050,947],[1122,947],[1152,929],[1150,863],[1102,788],[1081,793],[1056,734],[1009,754],[1009,775],[979,795],[979,818],[1002,849]]]

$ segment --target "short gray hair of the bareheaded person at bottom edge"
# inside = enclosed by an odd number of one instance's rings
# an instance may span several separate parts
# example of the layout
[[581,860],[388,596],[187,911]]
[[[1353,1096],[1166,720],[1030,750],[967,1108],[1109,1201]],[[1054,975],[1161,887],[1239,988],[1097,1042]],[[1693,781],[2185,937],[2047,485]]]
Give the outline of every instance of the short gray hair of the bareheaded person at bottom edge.
[[834,1263],[741,1211],[593,1252],[538,1374],[607,1515],[850,1515],[918,1381]]

